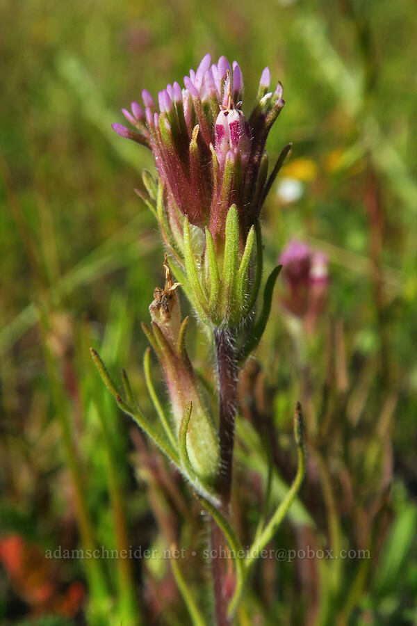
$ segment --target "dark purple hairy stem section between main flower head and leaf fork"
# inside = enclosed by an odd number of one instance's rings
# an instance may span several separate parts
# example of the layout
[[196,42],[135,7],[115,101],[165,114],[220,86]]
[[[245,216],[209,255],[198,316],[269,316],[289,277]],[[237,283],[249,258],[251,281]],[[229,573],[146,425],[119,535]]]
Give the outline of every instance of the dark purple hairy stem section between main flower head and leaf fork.
[[233,470],[234,426],[238,387],[238,368],[234,351],[234,337],[230,330],[215,330],[215,348],[219,381],[219,440],[220,472],[218,488],[222,508],[227,512],[231,495]]

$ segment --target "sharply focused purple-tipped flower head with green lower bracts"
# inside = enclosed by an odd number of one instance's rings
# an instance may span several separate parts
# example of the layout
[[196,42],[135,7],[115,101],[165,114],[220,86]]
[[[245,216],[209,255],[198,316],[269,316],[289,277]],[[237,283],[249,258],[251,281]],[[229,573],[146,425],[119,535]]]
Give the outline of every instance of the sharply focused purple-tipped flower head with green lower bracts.
[[[158,93],[158,107],[143,90],[143,107],[133,102],[131,112],[123,109],[134,130],[113,125],[154,154],[158,178],[145,172],[142,197],[158,218],[200,319],[214,328],[236,326],[256,300],[256,223],[289,152],[288,146],[268,178],[265,143],[284,106],[281,83],[274,91],[269,86],[265,67],[246,118],[238,63],[222,56],[212,65],[207,54],[184,78],[184,88],[174,82]],[[260,234],[256,246],[259,262]]]

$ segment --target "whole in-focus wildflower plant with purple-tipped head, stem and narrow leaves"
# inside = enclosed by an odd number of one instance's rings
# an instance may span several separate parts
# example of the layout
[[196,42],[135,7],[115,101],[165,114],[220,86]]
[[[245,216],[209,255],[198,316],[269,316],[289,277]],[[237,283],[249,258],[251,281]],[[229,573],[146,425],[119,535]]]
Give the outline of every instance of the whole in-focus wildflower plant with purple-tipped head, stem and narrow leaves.
[[[304,475],[302,417],[297,404],[297,477],[270,522],[256,533],[254,552],[242,556],[229,512],[238,372],[259,343],[270,312],[280,266],[266,280],[263,298],[259,298],[263,274],[259,216],[291,150],[291,144],[286,145],[277,163],[269,168],[265,145],[284,107],[281,83],[270,90],[270,81],[270,70],[265,67],[255,105],[245,115],[243,75],[238,63],[230,65],[222,56],[212,65],[207,54],[197,71],[190,70],[184,78],[183,88],[177,82],[168,84],[158,93],[157,104],[143,90],[143,106],[132,102],[131,111],[122,110],[131,127],[113,125],[120,136],[152,150],[157,170],[156,175],[143,172],[146,191],[137,193],[153,212],[167,252],[165,285],[154,291],[150,326],[142,324],[161,364],[170,396],[172,419],[164,415],[156,397],[147,351],[145,378],[162,431],[142,414],[126,373],[122,399],[99,355],[95,351],[92,355],[120,408],[136,419],[193,485],[213,517],[213,543],[219,545],[224,536],[234,554],[240,554],[235,556],[232,593],[226,584],[214,585],[219,624],[229,623],[254,561],[253,554],[256,550],[259,553],[275,533]],[[218,415],[212,415],[188,357],[188,318],[181,319],[181,289],[215,349]]]

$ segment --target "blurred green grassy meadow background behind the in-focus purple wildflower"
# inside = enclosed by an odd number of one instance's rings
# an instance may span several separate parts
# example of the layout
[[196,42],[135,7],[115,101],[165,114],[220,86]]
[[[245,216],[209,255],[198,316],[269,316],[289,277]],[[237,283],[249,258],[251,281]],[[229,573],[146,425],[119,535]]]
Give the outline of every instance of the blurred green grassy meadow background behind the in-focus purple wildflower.
[[[306,395],[306,369],[311,415],[327,420],[320,445],[311,426],[311,482],[276,547],[371,551],[365,561],[318,561],[313,573],[300,562],[262,563],[238,623],[415,623],[415,3],[2,0],[0,22],[0,539],[17,534],[42,550],[206,543],[198,504],[117,412],[88,347],[100,348],[112,371],[129,369],[152,415],[139,322],[162,284],[163,253],[133,188],[153,164],[110,125],[142,88],[156,94],[181,82],[206,51],[225,54],[243,69],[244,108],[265,65],[284,85],[287,104],[268,148],[277,157],[293,141],[281,180],[300,182],[302,195],[284,202],[280,180],[272,190],[263,214],[266,270],[297,237],[327,253],[332,275],[327,312],[303,340],[304,369],[278,295],[256,353],[263,367],[256,388],[282,455],[274,501],[293,472],[291,412]],[[191,344],[213,385],[196,329]],[[259,430],[244,415],[236,452],[243,536],[256,527],[256,485],[266,481]],[[26,561],[15,575],[6,566],[0,574],[5,625],[22,623],[37,606],[80,624],[85,615],[92,624],[188,619],[167,563],[58,562],[46,575],[56,582],[55,599],[67,597],[72,581],[85,584],[84,602],[64,610],[64,600],[36,604],[22,578],[37,561]],[[209,611],[205,565],[181,568]],[[32,589],[44,575],[34,580]]]

